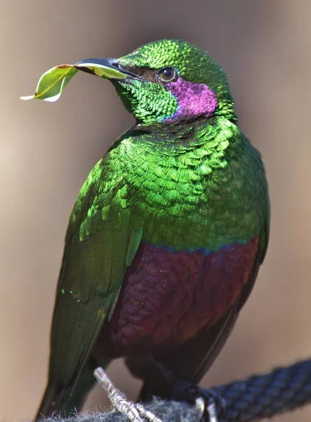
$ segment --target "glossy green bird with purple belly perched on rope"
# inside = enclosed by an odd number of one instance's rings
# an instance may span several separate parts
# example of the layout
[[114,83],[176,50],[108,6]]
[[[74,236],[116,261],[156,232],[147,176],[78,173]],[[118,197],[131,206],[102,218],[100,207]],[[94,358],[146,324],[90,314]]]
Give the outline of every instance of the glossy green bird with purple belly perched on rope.
[[[225,345],[267,250],[260,153],[241,131],[227,75],[180,39],[77,68],[109,79],[133,127],[93,167],[74,204],[37,417],[81,409],[124,357],[140,398],[197,385]],[[177,381],[176,381],[177,383]]]

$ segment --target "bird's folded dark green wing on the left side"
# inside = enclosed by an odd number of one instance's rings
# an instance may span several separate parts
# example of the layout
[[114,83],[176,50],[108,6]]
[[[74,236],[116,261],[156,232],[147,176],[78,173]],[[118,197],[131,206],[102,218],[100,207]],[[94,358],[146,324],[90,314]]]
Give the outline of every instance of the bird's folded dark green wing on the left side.
[[140,243],[141,234],[129,227],[123,175],[116,177],[105,169],[104,158],[74,205],[53,314],[48,388],[40,414],[64,409]]

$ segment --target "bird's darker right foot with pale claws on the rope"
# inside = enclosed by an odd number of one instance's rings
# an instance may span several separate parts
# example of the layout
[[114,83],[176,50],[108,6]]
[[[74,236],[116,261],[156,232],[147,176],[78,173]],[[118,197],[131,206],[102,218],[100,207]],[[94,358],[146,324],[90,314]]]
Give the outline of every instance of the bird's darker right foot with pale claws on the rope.
[[174,386],[173,396],[194,401],[198,411],[198,421],[201,421],[205,412],[209,415],[209,422],[218,422],[218,419],[225,414],[226,403],[223,397],[189,381],[178,380]]

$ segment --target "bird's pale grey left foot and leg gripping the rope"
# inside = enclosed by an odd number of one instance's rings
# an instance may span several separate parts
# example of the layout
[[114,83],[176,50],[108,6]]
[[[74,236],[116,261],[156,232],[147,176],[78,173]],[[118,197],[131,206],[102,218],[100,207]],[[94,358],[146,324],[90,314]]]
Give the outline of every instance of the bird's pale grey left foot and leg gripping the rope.
[[151,411],[145,409],[143,404],[128,400],[126,395],[112,384],[107,373],[105,373],[100,366],[98,366],[93,373],[98,383],[100,383],[105,392],[107,392],[112,405],[121,412],[121,414],[126,415],[131,422],[145,422],[145,419],[150,422],[161,422],[161,419],[155,416]]

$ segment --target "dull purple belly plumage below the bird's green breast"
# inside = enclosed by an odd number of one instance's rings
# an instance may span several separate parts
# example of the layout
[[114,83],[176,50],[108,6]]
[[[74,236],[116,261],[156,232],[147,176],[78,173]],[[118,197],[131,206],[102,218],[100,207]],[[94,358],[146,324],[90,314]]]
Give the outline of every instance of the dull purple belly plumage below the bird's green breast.
[[209,255],[142,243],[95,353],[117,357],[154,352],[180,345],[215,324],[248,281],[257,249],[258,236]]

